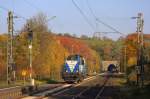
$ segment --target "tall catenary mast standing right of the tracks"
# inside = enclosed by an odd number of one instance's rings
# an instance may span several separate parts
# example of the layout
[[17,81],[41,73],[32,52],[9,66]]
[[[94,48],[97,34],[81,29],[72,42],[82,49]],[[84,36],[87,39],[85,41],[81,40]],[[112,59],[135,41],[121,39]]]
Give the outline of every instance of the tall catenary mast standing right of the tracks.
[[144,45],[144,38],[143,38],[143,26],[144,26],[144,19],[143,14],[138,13],[137,17],[132,17],[133,19],[137,19],[137,85],[143,87],[144,85],[144,64],[143,64],[143,45]]

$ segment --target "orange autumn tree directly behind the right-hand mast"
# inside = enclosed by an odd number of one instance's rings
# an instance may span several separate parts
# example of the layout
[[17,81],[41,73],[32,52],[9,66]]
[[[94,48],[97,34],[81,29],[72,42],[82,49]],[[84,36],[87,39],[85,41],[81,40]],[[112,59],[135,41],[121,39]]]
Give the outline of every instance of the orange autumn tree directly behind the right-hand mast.
[[[129,78],[133,78],[133,76],[136,75],[135,72],[135,66],[137,65],[137,58],[138,58],[138,49],[139,49],[139,43],[138,43],[138,34],[137,33],[132,33],[126,37],[126,49],[127,49],[127,70],[129,74]],[[149,76],[149,57],[150,57],[150,35],[149,34],[144,34],[144,49],[143,49],[143,64],[145,67],[145,78],[150,79]],[[136,80],[136,78],[132,79]]]

